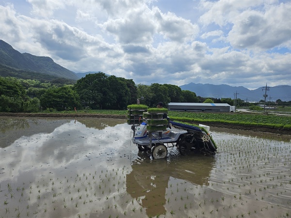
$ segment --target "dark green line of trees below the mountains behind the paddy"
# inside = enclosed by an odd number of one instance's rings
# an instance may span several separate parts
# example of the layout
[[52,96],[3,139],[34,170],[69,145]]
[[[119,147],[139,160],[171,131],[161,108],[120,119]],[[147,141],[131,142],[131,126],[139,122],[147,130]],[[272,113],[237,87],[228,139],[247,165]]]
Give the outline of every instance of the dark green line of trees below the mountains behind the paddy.
[[[158,102],[213,102],[233,104],[231,98],[203,98],[194,92],[170,84],[136,85],[132,79],[88,74],[75,84],[62,79],[44,82],[37,79],[0,77],[0,112],[38,112],[73,109],[127,109],[137,99],[148,107]],[[238,99],[237,104],[244,104]]]

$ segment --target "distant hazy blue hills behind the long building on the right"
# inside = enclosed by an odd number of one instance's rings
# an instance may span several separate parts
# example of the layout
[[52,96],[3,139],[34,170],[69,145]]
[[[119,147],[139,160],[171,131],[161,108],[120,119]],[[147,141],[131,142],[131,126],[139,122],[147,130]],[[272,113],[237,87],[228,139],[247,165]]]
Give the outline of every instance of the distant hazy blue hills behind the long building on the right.
[[[212,84],[201,84],[201,83],[189,83],[180,86],[182,90],[189,90],[196,93],[197,96],[201,97],[212,97],[212,98],[231,98],[233,99],[234,94],[237,93],[237,98],[244,101],[259,101],[263,100],[265,94],[264,87],[260,87],[255,90],[249,90],[242,86],[229,86],[229,85],[212,85]],[[266,101],[276,101],[281,99],[282,101],[291,101],[291,86],[280,85],[270,87],[267,91],[268,97]]]

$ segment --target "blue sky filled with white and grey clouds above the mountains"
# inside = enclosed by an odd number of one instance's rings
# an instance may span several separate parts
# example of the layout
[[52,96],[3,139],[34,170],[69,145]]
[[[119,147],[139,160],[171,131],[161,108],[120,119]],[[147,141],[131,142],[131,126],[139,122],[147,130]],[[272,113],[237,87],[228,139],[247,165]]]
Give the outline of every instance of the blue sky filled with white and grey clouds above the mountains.
[[0,39],[135,84],[291,85],[291,0],[0,0]]

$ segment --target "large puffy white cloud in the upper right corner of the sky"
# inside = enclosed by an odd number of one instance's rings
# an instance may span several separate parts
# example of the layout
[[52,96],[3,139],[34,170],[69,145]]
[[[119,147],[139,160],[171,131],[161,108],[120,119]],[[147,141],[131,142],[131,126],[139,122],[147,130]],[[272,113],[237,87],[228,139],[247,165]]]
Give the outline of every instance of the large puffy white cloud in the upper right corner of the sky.
[[227,39],[233,47],[267,50],[290,45],[291,4],[281,3],[266,12],[245,11],[234,20]]

